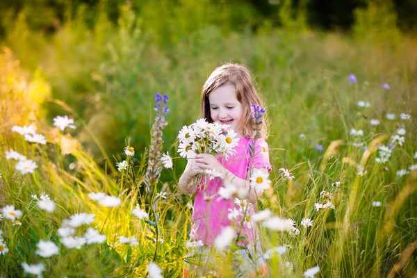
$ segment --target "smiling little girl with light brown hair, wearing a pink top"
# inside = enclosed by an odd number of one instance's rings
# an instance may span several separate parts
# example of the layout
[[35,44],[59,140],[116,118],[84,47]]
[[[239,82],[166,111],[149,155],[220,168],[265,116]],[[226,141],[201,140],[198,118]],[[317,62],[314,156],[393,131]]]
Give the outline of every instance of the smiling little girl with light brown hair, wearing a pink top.
[[[189,159],[179,179],[179,189],[182,193],[195,194],[194,225],[190,237],[195,241],[202,240],[204,246],[194,254],[209,254],[215,238],[225,227],[231,226],[233,217],[230,217],[229,213],[238,209],[245,211],[249,216],[254,213],[253,205],[256,206],[256,200],[262,192],[250,188],[249,173],[257,170],[268,174],[271,170],[268,145],[265,142],[265,120],[261,126],[261,138],[254,142],[254,155],[250,156],[250,144],[254,137],[251,106],[255,104],[262,105],[262,102],[254,88],[250,72],[243,65],[228,63],[217,67],[204,83],[202,117],[206,118],[207,122],[229,125],[238,133],[240,139],[234,149],[236,154],[229,156],[227,160],[211,154],[197,154],[195,158]],[[215,170],[222,178],[203,179],[204,186],[194,184],[195,175],[203,174],[205,170]],[[233,200],[220,197],[219,189],[225,185],[234,186],[239,198]],[[238,268],[243,268],[245,277],[250,277],[256,271],[259,273],[259,270],[265,275],[263,252],[259,246],[256,227],[250,223],[250,218],[245,218],[239,235],[245,236],[242,244],[248,248],[241,253],[245,260]],[[210,263],[209,259],[206,263]],[[198,270],[193,269],[194,275],[198,274]],[[184,270],[184,277],[188,276],[187,273],[188,270]],[[258,277],[264,277],[263,275]]]

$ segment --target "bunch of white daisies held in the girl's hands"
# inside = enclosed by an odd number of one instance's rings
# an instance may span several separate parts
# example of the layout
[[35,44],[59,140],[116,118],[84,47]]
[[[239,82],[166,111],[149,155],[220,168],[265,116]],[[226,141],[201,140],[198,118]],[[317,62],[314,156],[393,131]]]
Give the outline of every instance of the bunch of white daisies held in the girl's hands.
[[179,131],[179,155],[183,158],[194,158],[196,154],[222,156],[226,160],[236,154],[238,133],[229,126],[217,122],[209,123],[199,119],[190,126],[183,126]]

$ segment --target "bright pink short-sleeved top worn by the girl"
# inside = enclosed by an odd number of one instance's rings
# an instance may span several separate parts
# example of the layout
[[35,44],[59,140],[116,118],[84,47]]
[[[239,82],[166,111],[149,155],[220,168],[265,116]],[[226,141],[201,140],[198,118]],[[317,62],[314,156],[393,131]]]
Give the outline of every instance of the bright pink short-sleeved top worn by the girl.
[[[259,138],[255,142],[254,157],[250,159],[249,145],[251,138],[242,137],[239,144],[235,147],[236,154],[229,156],[229,159],[218,158],[220,163],[235,174],[240,179],[248,179],[247,172],[252,168],[267,168],[271,170],[271,165],[268,156],[268,144],[265,140]],[[229,208],[234,209],[235,204],[233,199],[224,200],[218,195],[218,190],[222,186],[222,181],[219,178],[204,181],[204,186],[199,186],[195,195],[193,221],[194,225],[191,227],[190,237],[194,240],[202,240],[204,245],[211,246],[216,236],[218,236],[224,227],[231,225],[231,220],[227,218]],[[206,183],[206,184],[205,184]],[[210,197],[210,200],[206,200]],[[248,214],[254,213],[253,208],[248,209]],[[244,226],[240,231],[240,235],[247,235],[250,242],[254,240],[254,229],[249,229]]]

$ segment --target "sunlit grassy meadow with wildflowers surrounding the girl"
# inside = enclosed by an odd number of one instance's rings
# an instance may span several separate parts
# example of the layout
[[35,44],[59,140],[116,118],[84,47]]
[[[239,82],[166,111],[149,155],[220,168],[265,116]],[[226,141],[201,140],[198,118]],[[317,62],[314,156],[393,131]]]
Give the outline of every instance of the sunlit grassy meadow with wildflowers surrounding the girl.
[[[49,35],[24,13],[10,26],[1,277],[181,277],[197,243],[177,136],[227,62],[252,71],[270,122],[272,183],[256,208],[272,214],[256,221],[270,277],[417,277],[415,34],[383,5],[357,10],[349,32],[324,32],[285,11],[281,27],[234,28],[245,8],[193,3],[122,6],[117,24],[86,22],[81,8]],[[213,248],[206,277],[240,277],[236,241]]]

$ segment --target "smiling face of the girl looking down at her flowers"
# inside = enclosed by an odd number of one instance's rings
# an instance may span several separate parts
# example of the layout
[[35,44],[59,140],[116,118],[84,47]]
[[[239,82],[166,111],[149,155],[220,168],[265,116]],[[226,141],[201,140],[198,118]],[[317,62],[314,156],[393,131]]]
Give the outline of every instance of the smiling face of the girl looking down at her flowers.
[[226,83],[213,90],[208,95],[210,102],[210,115],[214,122],[229,124],[237,133],[242,132],[243,115],[242,104],[236,97],[236,90],[233,84]]

